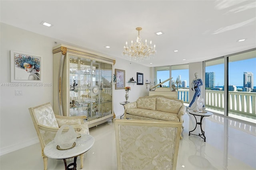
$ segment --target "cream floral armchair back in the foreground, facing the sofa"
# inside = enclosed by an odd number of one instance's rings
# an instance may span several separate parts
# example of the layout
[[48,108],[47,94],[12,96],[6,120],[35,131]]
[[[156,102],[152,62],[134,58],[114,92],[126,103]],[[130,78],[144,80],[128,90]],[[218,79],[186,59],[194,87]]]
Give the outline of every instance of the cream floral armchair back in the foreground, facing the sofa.
[[181,122],[115,120],[118,170],[176,170]]

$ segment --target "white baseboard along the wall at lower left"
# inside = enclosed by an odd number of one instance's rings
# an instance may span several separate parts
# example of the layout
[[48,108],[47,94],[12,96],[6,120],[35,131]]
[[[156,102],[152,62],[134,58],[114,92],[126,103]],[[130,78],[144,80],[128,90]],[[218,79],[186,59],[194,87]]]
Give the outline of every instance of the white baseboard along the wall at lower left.
[[10,147],[6,147],[6,148],[3,148],[3,149],[0,149],[0,156],[2,156],[4,154],[7,154],[7,153],[10,153],[10,152],[13,152],[15,150],[22,149],[24,147],[28,147],[30,145],[34,145],[34,144],[36,144],[38,142],[39,142],[38,138],[35,138],[35,139],[31,139],[31,140],[26,141],[26,142],[18,143],[16,145],[12,145]]

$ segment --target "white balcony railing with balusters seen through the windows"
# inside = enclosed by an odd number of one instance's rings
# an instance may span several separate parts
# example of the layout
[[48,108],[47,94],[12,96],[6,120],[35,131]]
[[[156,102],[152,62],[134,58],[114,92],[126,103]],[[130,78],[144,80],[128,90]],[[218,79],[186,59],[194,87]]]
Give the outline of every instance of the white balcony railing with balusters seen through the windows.
[[[256,93],[228,92],[228,110],[256,117]],[[178,99],[189,104],[189,90],[179,89]],[[224,91],[205,90],[205,106],[224,110]]]

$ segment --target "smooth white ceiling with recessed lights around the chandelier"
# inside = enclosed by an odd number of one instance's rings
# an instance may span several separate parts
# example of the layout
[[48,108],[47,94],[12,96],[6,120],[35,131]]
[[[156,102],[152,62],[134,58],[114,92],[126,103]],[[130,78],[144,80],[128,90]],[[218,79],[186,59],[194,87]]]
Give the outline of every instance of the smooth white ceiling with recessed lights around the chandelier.
[[157,50],[153,59],[140,62],[145,66],[204,61],[256,47],[255,0],[0,0],[0,21],[120,58],[125,42],[135,41],[135,28],[142,27],[142,40],[152,40]]

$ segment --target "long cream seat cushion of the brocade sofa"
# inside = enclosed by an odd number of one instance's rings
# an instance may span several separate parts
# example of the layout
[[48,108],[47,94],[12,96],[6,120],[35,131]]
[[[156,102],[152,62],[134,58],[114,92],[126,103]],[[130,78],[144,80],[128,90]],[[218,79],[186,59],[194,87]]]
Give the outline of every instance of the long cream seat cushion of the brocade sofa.
[[[127,114],[141,116],[141,117],[149,117],[152,119],[164,120],[164,121],[180,121],[178,114],[158,111],[158,110],[149,110],[149,109],[126,109]],[[126,115],[129,117],[128,115]]]

